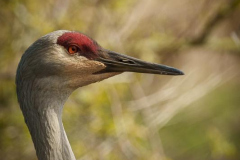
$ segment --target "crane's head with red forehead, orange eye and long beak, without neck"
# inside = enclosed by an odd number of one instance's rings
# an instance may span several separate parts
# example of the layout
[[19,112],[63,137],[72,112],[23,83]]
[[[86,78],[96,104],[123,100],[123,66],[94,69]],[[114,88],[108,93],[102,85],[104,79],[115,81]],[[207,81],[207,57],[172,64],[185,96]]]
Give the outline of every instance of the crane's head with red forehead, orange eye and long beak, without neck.
[[183,75],[173,67],[109,51],[82,33],[64,30],[47,34],[33,43],[24,53],[18,69],[22,77],[54,76],[62,85],[73,88],[122,72]]

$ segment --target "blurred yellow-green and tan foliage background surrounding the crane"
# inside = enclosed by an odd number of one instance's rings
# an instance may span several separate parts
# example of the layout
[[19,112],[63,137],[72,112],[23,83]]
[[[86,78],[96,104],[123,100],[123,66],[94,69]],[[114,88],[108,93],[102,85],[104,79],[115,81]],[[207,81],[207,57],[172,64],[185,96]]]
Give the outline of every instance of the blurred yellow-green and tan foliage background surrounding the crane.
[[239,160],[240,0],[1,0],[0,159],[36,160],[15,92],[24,51],[59,29],[176,67],[76,90],[63,123],[78,160]]

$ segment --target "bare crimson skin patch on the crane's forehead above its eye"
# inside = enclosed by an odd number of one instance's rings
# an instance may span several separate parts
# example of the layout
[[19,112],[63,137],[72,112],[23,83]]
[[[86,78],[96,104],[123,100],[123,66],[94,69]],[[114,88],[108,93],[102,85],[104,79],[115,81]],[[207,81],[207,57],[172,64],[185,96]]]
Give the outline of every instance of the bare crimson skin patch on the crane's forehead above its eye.
[[80,51],[79,54],[88,59],[95,59],[98,57],[97,51],[100,46],[93,39],[79,32],[66,32],[57,39],[57,44],[69,48],[71,45],[77,46]]

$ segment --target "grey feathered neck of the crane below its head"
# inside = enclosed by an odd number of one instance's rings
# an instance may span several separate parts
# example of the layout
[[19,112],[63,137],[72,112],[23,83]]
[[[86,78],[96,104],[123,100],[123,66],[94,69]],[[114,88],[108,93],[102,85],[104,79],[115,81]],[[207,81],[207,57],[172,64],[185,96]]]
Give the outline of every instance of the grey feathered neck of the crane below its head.
[[31,82],[18,85],[17,92],[38,159],[75,160],[62,124],[63,105],[71,92]]

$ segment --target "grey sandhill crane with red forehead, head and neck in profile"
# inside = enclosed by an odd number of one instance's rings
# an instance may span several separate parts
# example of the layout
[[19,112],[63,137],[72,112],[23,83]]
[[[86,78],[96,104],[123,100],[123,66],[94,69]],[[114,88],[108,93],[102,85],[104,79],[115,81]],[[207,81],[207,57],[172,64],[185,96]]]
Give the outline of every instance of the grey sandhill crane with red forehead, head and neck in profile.
[[39,160],[75,160],[62,124],[65,101],[75,89],[122,72],[183,75],[106,50],[75,31],[49,33],[25,51],[17,69],[17,96]]

